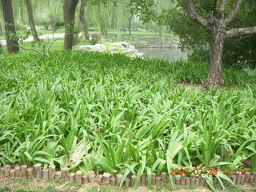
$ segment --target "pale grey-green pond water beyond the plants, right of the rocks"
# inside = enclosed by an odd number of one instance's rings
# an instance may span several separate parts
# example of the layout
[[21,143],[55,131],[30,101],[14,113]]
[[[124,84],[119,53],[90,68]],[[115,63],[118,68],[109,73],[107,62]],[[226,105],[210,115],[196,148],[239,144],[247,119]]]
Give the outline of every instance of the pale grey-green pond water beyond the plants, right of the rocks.
[[165,60],[175,61],[180,58],[187,59],[186,51],[178,49],[178,46],[174,45],[170,48],[142,48],[138,50],[144,57],[147,58],[161,58]]

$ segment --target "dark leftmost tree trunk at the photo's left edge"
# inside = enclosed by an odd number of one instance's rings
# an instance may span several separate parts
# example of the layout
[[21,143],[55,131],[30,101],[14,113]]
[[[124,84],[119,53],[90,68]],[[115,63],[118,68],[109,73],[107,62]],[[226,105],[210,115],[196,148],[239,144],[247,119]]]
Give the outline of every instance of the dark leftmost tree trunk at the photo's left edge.
[[19,51],[18,38],[14,25],[14,14],[11,6],[11,0],[1,0],[1,3],[3,18],[5,21],[7,50],[9,53],[17,53]]

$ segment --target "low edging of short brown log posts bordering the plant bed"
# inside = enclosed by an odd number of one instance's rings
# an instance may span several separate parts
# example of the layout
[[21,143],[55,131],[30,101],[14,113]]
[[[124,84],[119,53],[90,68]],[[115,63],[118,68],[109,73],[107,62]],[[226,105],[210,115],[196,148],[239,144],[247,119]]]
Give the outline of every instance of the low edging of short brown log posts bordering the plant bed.
[[[122,180],[122,174],[117,174],[115,177],[108,173],[96,175],[94,171],[89,171],[88,174],[82,175],[82,171],[77,171],[75,174],[70,173],[68,168],[62,168],[62,170],[56,170],[55,166],[49,166],[49,169],[42,169],[41,164],[35,164],[34,166],[28,167],[22,166],[1,166],[0,175],[6,178],[36,178],[42,180],[54,180],[63,179],[65,181],[76,181],[80,184],[95,183],[105,186],[120,186]],[[256,183],[256,173],[236,172],[228,176],[235,184],[253,184]],[[130,178],[126,178],[123,186],[127,188],[134,186],[135,175],[131,175]],[[152,186],[160,185],[161,183],[169,183],[168,174],[162,173],[160,177],[157,177],[155,173],[151,174]],[[218,182],[217,178],[214,178],[214,184]],[[191,174],[190,177],[186,176],[175,176],[173,175],[174,186],[208,186],[206,179],[202,176],[196,177],[195,174]],[[146,174],[142,174],[138,186],[146,186]]]

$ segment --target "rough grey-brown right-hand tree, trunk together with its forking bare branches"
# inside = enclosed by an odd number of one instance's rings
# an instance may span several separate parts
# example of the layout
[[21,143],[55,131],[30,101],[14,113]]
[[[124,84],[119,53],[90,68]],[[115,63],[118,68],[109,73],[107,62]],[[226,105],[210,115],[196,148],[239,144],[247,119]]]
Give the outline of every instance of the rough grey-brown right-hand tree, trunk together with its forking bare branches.
[[237,0],[233,10],[230,11],[230,14],[228,14],[226,18],[224,15],[226,0],[220,0],[219,17],[214,17],[215,11],[213,11],[213,14],[208,19],[202,18],[202,16],[196,12],[192,0],[185,0],[185,2],[190,17],[198,22],[199,25],[203,26],[210,33],[212,38],[210,69],[204,86],[206,88],[209,88],[210,86],[216,88],[224,86],[224,80],[222,78],[222,54],[225,38],[233,38],[245,34],[255,34],[256,26],[226,30],[226,26],[228,26],[235,18],[236,14],[238,14],[243,0]]

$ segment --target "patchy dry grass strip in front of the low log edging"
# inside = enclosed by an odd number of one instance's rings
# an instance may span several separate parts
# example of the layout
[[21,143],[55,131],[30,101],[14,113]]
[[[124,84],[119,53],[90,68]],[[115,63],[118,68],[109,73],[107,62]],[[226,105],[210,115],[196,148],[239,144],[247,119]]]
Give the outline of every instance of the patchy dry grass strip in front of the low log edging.
[[[228,182],[224,182],[224,185],[226,186],[226,190],[222,190],[221,186],[217,186],[216,191],[223,191],[223,192],[245,192],[248,191],[250,188],[244,187],[241,188],[239,186],[232,186]],[[126,191],[131,191],[127,188],[119,188],[118,186],[98,186],[94,185],[78,185],[77,183],[70,182],[66,183],[66,185],[63,184],[58,184],[54,182],[38,182],[35,180],[31,180],[30,182],[24,183],[17,183],[17,182],[10,182],[9,184],[6,184],[5,186],[0,187],[0,192],[126,192]],[[171,186],[170,184],[168,185],[159,185],[159,186],[151,186],[151,187],[140,187],[140,189],[136,191],[143,191],[143,192],[161,192],[161,191],[184,191],[184,192],[189,192],[189,191],[209,191],[205,187],[200,187],[198,186]],[[250,191],[254,191],[253,189],[250,189]]]

